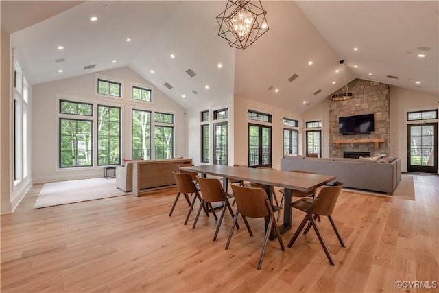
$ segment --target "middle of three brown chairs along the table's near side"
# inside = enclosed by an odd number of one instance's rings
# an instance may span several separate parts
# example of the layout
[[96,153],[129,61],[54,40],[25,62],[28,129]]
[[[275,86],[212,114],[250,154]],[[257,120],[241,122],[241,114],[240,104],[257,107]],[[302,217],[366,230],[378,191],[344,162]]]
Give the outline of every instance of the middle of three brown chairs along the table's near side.
[[[195,218],[195,221],[193,221],[193,226],[192,226],[193,229],[195,229],[195,226],[197,225],[198,218],[200,217],[201,209],[204,205],[209,205],[213,213],[213,217],[215,218],[215,220],[218,220],[217,215],[215,213],[215,209],[213,209],[211,202],[223,202],[221,215],[219,216],[219,221],[217,224],[215,235],[213,236],[213,241],[215,241],[217,239],[219,226],[221,226],[222,220],[224,218],[224,213],[226,213],[226,209],[228,209],[230,215],[232,215],[232,218],[235,216],[235,214],[232,211],[232,207],[230,206],[230,202],[228,202],[230,196],[226,194],[226,192],[224,191],[221,185],[221,181],[219,181],[217,178],[198,177],[197,179],[198,179],[198,185],[200,186],[202,201],[200,207],[198,208],[198,213]],[[237,222],[235,224],[236,224],[236,228],[239,229],[239,224]]]

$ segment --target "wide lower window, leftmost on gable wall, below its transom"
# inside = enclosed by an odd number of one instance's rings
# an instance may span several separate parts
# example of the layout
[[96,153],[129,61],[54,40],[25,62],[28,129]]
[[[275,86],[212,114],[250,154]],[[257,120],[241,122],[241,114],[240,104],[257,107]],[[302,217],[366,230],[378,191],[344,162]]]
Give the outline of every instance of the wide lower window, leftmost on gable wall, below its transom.
[[91,166],[93,121],[60,118],[60,168]]

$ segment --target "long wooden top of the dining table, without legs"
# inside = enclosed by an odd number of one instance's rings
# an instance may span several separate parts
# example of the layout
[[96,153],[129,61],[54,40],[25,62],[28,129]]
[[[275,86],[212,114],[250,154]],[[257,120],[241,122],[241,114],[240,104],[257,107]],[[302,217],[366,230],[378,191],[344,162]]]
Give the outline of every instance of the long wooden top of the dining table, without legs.
[[298,191],[312,191],[317,187],[335,180],[335,176],[320,174],[305,174],[270,169],[244,168],[224,165],[200,165],[180,167],[182,170],[225,176],[239,180],[283,187]]

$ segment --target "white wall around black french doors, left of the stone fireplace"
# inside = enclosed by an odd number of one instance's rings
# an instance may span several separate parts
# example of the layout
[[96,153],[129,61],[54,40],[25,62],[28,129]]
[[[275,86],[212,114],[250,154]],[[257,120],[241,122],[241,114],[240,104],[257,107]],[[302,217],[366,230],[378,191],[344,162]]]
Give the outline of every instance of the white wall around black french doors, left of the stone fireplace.
[[[281,168],[281,159],[283,158],[283,117],[299,121],[299,149],[302,149],[302,117],[287,109],[277,108],[269,104],[261,104],[251,99],[235,96],[233,101],[233,124],[234,124],[234,158],[229,165],[243,164],[248,165],[248,110],[257,110],[259,112],[272,115],[272,167]],[[258,124],[258,121],[254,121]],[[270,124],[267,124],[270,125]]]

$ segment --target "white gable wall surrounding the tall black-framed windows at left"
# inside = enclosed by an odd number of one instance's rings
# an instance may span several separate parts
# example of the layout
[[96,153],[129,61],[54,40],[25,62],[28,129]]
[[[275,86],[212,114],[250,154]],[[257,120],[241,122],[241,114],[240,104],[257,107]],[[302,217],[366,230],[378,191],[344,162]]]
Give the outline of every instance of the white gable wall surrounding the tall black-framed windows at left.
[[[131,111],[132,108],[144,110],[160,110],[174,113],[175,118],[175,156],[186,154],[186,118],[185,109],[176,104],[161,91],[154,89],[152,84],[140,75],[121,67],[97,73],[108,78],[123,81],[123,99],[101,97],[95,94],[95,73],[67,78],[55,82],[38,84],[33,87],[32,104],[32,174],[34,183],[74,180],[80,178],[97,178],[103,176],[102,167],[58,168],[58,99],[78,100],[83,102],[98,102],[108,106],[122,108],[122,159],[131,158]],[[132,83],[149,86],[153,89],[154,104],[133,101],[131,99]],[[96,140],[96,138],[94,139]],[[96,156],[96,154],[94,154]]]

